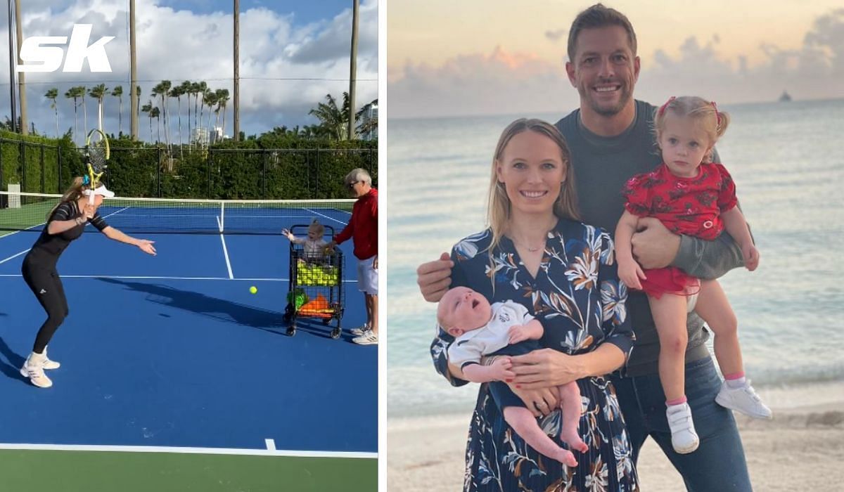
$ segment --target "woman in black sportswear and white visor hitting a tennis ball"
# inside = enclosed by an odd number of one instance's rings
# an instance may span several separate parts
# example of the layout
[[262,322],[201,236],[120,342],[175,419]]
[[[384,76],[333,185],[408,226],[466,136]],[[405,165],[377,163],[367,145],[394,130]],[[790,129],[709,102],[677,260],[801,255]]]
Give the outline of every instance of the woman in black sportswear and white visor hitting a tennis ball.
[[[93,203],[89,197],[93,195]],[[56,271],[58,257],[62,251],[82,235],[85,224],[91,223],[109,239],[138,246],[141,251],[155,255],[153,241],[135,239],[116,230],[97,214],[103,197],[114,197],[104,186],[91,189],[88,176],[77,177],[73,185],[62,196],[62,201],[47,214],[47,224],[38,240],[24,257],[21,273],[38,302],[47,312],[47,320],[35,336],[32,353],[26,358],[20,373],[29,377],[36,387],[51,387],[52,381],[44,374],[45,369],[57,369],[59,363],[47,359],[47,343],[56,333],[59,325],[68,316],[68,300],[62,288],[62,279]]]

